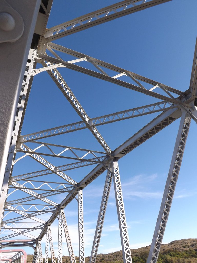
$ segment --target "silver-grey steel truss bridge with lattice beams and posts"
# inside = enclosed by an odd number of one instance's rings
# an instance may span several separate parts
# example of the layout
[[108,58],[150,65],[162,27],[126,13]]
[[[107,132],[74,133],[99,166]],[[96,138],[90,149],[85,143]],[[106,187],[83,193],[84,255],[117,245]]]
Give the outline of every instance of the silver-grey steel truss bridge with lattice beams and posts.
[[[14,17],[17,29],[14,33],[12,32],[14,30],[12,22],[8,22],[8,29],[2,26],[1,30],[5,34],[1,36],[1,47],[5,50],[5,56],[7,56],[6,50],[10,48],[10,45],[15,49],[18,48],[18,53],[16,54],[15,52],[12,54],[13,61],[15,59],[18,60],[18,67],[13,76],[12,83],[5,78],[9,67],[12,67],[12,62],[5,66],[3,75],[1,75],[2,83],[6,83],[10,92],[9,104],[12,105],[8,109],[8,106],[3,104],[2,108],[4,107],[6,110],[1,117],[1,146],[3,149],[0,166],[2,183],[0,197],[1,249],[5,247],[30,246],[35,251],[33,263],[43,263],[41,241],[44,238],[46,240],[45,263],[48,262],[49,250],[52,262],[55,263],[51,225],[55,219],[58,219],[58,263],[61,263],[62,238],[64,234],[68,245],[70,261],[71,263],[76,263],[64,208],[70,203],[77,201],[79,262],[84,263],[83,191],[86,186],[92,183],[103,172],[107,171],[95,236],[94,240],[92,240],[90,263],[96,262],[111,185],[114,186],[115,191],[123,261],[131,263],[132,258],[129,249],[118,160],[175,120],[180,119],[172,161],[147,260],[147,263],[157,262],[177,184],[190,122],[191,119],[197,122],[197,74],[195,74],[197,48],[194,53],[189,89],[182,92],[133,73],[128,69],[123,69],[98,58],[71,50],[54,43],[54,41],[101,23],[141,11],[142,9],[165,4],[168,1],[170,0],[125,0],[52,28],[46,28],[52,0],[31,1],[34,3],[26,3],[24,0],[20,0],[18,4],[13,3],[13,1],[3,0],[1,12],[7,12],[11,17]],[[21,8],[22,6],[26,8],[25,12]],[[8,21],[9,19],[11,18],[8,17]],[[72,57],[72,60],[62,59],[61,57],[64,57],[65,54]],[[4,56],[4,54],[2,55]],[[80,62],[83,62],[83,66],[81,66]],[[75,97],[74,92],[66,83],[66,79],[60,74],[60,70],[63,72],[64,68],[157,98],[158,102],[90,118]],[[68,100],[72,106],[71,110],[74,110],[79,115],[80,121],[61,124],[59,127],[50,127],[45,130],[22,135],[21,129],[33,78],[37,74],[43,74],[42,72],[44,71],[55,82],[62,96]],[[122,76],[125,76],[127,81],[123,81],[121,79]],[[147,88],[147,84],[149,88]],[[161,94],[160,90],[163,91],[162,94],[164,95]],[[110,149],[110,146],[97,129],[100,125],[113,122],[119,122],[121,125],[121,120],[152,113],[157,113],[157,117],[152,119],[151,122],[147,123],[116,149]],[[4,122],[5,119],[8,121]],[[54,144],[46,139],[85,129],[89,130],[91,133],[90,136],[93,136],[92,138],[101,145],[102,151]],[[38,162],[44,167],[42,170],[34,170],[33,166],[30,173],[12,174],[13,166],[23,158],[31,158],[35,163]],[[55,165],[54,163],[56,163],[57,158],[61,161],[63,160],[64,164]],[[89,173],[83,177],[79,176],[80,180],[78,181],[67,175],[67,171],[77,168],[77,174],[79,174],[79,168],[87,166],[90,169]],[[16,193],[19,192],[20,195],[17,196]],[[59,196],[59,203],[54,201],[55,195]],[[38,236],[32,234],[35,230],[39,233]]]

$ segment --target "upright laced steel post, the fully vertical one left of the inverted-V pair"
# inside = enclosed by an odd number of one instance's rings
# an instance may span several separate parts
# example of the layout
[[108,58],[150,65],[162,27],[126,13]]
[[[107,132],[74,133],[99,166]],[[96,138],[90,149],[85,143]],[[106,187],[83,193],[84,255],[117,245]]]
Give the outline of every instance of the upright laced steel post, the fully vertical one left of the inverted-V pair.
[[85,263],[84,256],[84,212],[82,189],[78,192],[78,219],[79,219],[79,263]]

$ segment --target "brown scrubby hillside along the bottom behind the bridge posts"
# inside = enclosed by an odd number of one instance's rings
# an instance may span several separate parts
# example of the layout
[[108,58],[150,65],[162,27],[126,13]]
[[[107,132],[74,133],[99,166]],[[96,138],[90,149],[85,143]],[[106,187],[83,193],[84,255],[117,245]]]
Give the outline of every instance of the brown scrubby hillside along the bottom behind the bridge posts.
[[[150,246],[131,249],[133,263],[146,263]],[[27,255],[27,263],[31,263],[33,255]],[[86,257],[88,263],[90,257]],[[76,257],[79,262],[79,258]],[[49,263],[51,260],[49,260]],[[69,256],[62,257],[62,263],[69,263]],[[110,254],[98,254],[97,263],[123,263],[122,251]],[[161,247],[158,263],[197,263],[197,239],[181,239],[163,244]]]

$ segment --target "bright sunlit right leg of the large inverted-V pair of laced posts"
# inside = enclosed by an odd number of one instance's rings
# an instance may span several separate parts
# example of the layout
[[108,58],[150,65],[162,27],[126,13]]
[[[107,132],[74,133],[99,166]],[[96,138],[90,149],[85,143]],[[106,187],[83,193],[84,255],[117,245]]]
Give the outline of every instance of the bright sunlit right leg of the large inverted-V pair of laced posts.
[[122,197],[120,174],[119,174],[119,169],[118,169],[118,162],[116,160],[113,161],[112,172],[113,172],[113,184],[114,184],[114,189],[115,189],[116,207],[117,207],[117,213],[118,213],[118,222],[119,222],[119,229],[120,229],[123,261],[124,263],[132,263],[131,251],[129,248],[129,237],[128,237],[128,231],[127,231],[125,207],[124,207],[123,197]]

